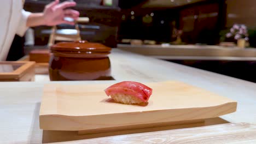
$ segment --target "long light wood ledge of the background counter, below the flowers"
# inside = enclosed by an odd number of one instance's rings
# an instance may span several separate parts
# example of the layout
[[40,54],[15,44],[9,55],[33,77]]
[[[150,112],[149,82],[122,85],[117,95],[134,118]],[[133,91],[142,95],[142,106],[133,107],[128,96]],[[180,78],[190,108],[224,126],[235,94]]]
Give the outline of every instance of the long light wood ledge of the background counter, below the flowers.
[[256,61],[256,49],[217,45],[127,45],[118,49],[168,60]]

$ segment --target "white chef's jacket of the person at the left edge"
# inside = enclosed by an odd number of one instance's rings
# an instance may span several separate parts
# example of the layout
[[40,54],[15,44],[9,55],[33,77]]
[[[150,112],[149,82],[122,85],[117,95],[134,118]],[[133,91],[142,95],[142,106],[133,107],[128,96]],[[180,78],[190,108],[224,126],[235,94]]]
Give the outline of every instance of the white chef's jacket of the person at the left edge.
[[0,3],[0,61],[5,61],[15,34],[23,36],[27,17],[22,0],[1,0]]

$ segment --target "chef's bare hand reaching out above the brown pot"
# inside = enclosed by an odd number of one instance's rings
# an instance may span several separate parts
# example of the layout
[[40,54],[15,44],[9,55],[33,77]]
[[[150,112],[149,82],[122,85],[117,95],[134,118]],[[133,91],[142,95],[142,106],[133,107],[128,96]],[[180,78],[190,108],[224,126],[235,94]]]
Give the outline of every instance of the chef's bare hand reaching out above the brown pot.
[[66,9],[69,7],[74,7],[75,2],[63,2],[59,3],[59,0],[49,3],[45,6],[43,11],[43,19],[46,26],[55,26],[61,23],[66,23],[69,25],[74,25],[74,21],[67,21],[65,17],[70,17],[73,20],[77,20],[79,17],[79,12],[72,9]]

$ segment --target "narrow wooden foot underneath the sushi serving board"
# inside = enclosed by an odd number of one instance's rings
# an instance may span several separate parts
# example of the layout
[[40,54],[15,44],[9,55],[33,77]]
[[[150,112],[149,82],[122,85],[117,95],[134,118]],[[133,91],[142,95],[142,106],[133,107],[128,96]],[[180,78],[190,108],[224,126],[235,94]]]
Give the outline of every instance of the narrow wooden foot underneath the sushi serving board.
[[136,130],[136,129],[138,131],[139,131],[139,129],[149,129],[149,131],[150,131],[150,129],[152,129],[153,131],[155,131],[155,130],[161,129],[161,127],[172,127],[172,129],[179,129],[179,128],[187,128],[188,124],[192,124],[192,125],[194,125],[194,127],[200,127],[200,126],[205,125],[204,123],[205,123],[205,119],[195,119],[195,120],[190,120],[190,121],[179,121],[179,122],[127,125],[127,126],[122,126],[122,127],[80,130],[80,131],[78,131],[78,135],[106,133],[106,132],[122,131],[122,130]]

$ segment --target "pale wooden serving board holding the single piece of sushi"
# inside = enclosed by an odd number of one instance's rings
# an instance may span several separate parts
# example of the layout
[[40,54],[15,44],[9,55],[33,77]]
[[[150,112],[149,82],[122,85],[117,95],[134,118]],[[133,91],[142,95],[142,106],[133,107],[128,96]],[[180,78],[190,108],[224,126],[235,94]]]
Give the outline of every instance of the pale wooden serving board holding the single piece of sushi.
[[145,84],[153,88],[147,105],[115,103],[104,93],[110,84],[45,85],[40,128],[98,133],[201,122],[236,111],[236,101],[182,82]]

